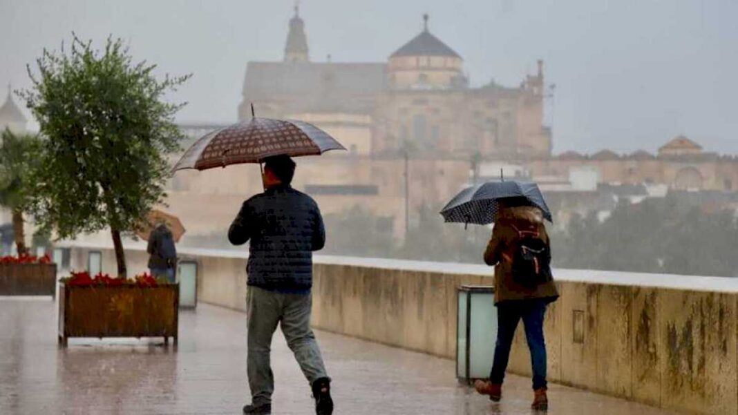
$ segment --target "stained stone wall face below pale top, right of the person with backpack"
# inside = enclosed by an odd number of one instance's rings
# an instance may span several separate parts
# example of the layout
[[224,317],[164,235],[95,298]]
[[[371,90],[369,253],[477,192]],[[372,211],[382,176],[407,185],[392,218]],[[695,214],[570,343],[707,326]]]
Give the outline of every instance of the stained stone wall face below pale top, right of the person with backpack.
[[[549,379],[696,414],[737,414],[735,293],[559,282]],[[509,370],[530,374],[518,331]]]

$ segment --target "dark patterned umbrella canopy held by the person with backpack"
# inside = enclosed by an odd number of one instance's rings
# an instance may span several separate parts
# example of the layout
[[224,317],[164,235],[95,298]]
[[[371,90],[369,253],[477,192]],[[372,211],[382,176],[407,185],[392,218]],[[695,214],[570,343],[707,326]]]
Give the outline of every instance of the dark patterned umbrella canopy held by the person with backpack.
[[505,198],[525,198],[543,211],[543,217],[553,221],[538,185],[521,181],[491,181],[467,187],[446,204],[441,215],[446,222],[486,225],[494,222],[500,209],[497,201]]

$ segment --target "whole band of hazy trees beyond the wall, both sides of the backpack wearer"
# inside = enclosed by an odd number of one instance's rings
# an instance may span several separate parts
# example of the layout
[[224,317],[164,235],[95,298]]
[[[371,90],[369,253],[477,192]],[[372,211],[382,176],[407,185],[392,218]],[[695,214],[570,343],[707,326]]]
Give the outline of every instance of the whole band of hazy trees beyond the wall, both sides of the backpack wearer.
[[[444,223],[438,206],[421,206],[404,241],[365,209],[326,215],[325,252],[441,262],[482,263],[488,226]],[[706,211],[676,197],[619,203],[610,217],[573,215],[564,230],[548,224],[557,268],[738,276],[734,211]]]

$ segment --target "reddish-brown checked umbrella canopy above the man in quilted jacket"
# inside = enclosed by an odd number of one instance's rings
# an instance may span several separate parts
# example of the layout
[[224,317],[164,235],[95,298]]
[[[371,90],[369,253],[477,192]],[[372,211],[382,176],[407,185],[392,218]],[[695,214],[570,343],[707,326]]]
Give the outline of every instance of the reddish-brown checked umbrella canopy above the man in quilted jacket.
[[328,133],[294,119],[253,117],[207,133],[175,164],[174,170],[206,170],[230,164],[261,163],[264,158],[319,156],[328,150],[346,150]]

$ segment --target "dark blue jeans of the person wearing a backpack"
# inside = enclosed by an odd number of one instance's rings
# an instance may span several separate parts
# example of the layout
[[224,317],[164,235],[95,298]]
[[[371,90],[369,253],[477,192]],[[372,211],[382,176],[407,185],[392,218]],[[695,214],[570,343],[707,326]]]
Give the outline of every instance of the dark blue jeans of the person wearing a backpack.
[[523,319],[525,338],[531,349],[531,366],[533,367],[533,388],[545,388],[546,383],[546,344],[543,340],[543,316],[547,301],[529,299],[506,301],[497,304],[497,345],[494,347],[494,363],[489,380],[492,383],[503,383],[505,370],[510,359],[510,347],[517,329],[517,323]]

